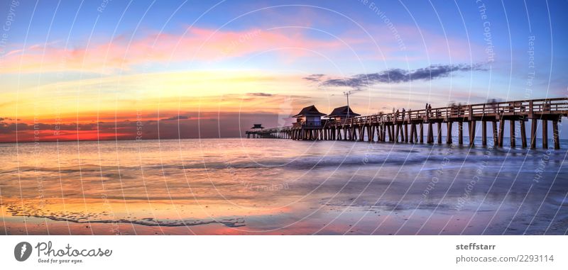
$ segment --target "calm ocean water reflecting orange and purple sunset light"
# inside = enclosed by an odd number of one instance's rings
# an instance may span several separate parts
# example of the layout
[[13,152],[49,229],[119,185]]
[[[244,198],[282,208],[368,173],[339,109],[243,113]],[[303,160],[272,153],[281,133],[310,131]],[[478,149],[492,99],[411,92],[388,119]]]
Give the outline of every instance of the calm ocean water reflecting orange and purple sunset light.
[[246,138],[0,144],[0,234],[565,235],[567,150],[565,140],[561,150]]

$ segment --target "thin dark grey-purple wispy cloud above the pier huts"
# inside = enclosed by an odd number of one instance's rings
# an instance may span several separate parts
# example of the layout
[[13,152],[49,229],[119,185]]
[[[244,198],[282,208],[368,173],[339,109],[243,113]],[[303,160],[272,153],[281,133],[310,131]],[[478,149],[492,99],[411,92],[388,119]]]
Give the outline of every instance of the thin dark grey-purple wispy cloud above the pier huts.
[[321,81],[322,86],[349,87],[362,89],[373,84],[398,84],[408,81],[428,81],[448,77],[452,72],[473,72],[486,70],[483,64],[433,64],[414,70],[387,69],[382,72],[356,74],[351,77],[321,80],[323,74],[313,74],[304,77],[307,81]]

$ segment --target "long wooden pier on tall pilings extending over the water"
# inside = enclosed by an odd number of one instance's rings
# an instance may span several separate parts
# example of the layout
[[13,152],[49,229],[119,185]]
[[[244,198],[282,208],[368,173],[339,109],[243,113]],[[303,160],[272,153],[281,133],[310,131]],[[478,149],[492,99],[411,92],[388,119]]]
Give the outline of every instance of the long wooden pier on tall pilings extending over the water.
[[[309,106],[302,109],[315,109]],[[317,109],[315,109],[317,112]],[[297,116],[301,116],[301,113]],[[319,112],[318,112],[319,113]],[[468,125],[469,145],[474,146],[476,125],[481,123],[481,145],[487,145],[487,123],[495,147],[503,147],[506,121],[509,123],[510,147],[536,147],[537,125],[542,125],[542,148],[548,148],[548,121],[552,122],[555,149],[560,148],[558,123],[568,116],[568,98],[504,101],[441,108],[423,108],[403,113],[384,113],[341,119],[298,120],[293,125],[246,132],[246,137],[293,140],[352,140],[368,142],[442,143],[442,125],[446,125],[446,143],[453,143],[452,127],[457,123],[458,143],[464,144],[464,123]],[[527,141],[525,122],[531,120]],[[518,123],[518,125],[517,125]],[[434,126],[436,125],[436,132]],[[426,133],[426,140],[424,139]],[[518,138],[520,133],[520,140]]]

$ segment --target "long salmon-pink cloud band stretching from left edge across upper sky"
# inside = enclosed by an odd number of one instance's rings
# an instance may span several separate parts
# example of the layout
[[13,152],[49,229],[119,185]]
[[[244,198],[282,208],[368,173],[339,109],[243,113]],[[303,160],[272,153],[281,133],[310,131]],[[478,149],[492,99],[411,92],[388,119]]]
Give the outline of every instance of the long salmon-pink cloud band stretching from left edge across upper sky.
[[[110,43],[91,43],[89,47],[77,49],[56,43],[31,45],[8,52],[4,57],[3,72],[109,73],[116,69],[130,69],[136,64],[189,60],[211,62],[266,50],[277,50],[289,59],[303,56],[307,50],[345,49],[339,40],[310,38],[304,32],[299,29],[226,31],[189,28],[184,35],[150,33],[131,42],[121,36]],[[288,49],[278,50],[281,48]]]

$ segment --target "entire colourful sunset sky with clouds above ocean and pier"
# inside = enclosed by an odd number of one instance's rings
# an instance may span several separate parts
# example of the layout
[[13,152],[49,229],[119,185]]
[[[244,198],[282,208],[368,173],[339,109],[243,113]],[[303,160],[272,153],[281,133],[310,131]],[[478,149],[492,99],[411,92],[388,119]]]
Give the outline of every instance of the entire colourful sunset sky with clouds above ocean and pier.
[[304,106],[329,113],[345,91],[361,115],[564,97],[566,11],[540,0],[2,0],[0,142],[239,137]]

